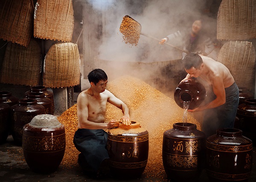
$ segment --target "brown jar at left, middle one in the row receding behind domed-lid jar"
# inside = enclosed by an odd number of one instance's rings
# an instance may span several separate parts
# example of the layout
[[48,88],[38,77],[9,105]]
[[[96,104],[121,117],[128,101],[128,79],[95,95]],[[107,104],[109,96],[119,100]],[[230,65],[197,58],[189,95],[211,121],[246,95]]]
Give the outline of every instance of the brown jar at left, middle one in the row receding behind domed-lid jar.
[[44,97],[43,93],[40,92],[31,92],[26,96],[29,99],[35,99],[38,104],[41,104],[45,108],[45,114],[52,114],[52,100],[49,97]]

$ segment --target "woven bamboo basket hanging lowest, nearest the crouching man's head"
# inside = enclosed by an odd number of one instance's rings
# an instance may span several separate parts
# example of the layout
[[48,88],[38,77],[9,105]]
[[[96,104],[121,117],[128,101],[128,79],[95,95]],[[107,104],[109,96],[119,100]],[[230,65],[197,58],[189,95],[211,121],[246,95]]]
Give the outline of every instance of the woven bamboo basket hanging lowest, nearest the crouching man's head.
[[60,88],[79,83],[80,56],[77,45],[74,43],[52,45],[44,59],[44,86]]

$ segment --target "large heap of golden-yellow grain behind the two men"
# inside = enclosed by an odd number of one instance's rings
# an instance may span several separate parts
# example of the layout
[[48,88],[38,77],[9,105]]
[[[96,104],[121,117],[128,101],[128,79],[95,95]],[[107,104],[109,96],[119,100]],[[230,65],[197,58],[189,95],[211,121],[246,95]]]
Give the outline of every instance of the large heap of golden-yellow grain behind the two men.
[[[183,109],[176,102],[140,79],[124,76],[108,83],[107,89],[125,102],[130,109],[130,119],[140,122],[149,133],[148,164],[144,175],[148,178],[166,179],[162,162],[163,133],[172,128],[176,122],[182,122]],[[73,145],[73,135],[77,126],[76,105],[65,111],[59,121],[66,127],[67,143],[63,165],[76,165],[79,152]],[[122,111],[107,104],[106,122],[120,119]],[[187,122],[194,123],[200,129],[199,123],[191,116]]]

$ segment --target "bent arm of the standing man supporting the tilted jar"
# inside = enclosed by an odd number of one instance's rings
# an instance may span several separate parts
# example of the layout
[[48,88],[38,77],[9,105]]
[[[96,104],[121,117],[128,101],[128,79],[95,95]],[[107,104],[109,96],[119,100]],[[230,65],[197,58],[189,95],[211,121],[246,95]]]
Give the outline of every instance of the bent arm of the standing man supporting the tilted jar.
[[212,100],[212,102],[209,102],[206,105],[202,105],[202,106],[199,106],[198,108],[188,110],[188,111],[189,112],[203,111],[205,109],[216,108],[220,105],[223,105],[226,102],[226,93],[225,93],[222,77],[217,76],[213,78],[212,89],[214,94],[216,95],[215,100]]

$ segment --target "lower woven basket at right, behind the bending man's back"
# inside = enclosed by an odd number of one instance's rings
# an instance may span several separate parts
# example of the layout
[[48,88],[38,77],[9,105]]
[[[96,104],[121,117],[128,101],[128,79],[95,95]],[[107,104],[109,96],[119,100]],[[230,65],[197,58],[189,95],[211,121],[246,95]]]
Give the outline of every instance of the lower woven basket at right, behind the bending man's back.
[[238,87],[254,91],[256,53],[251,42],[228,41],[218,52],[217,61],[233,75]]

